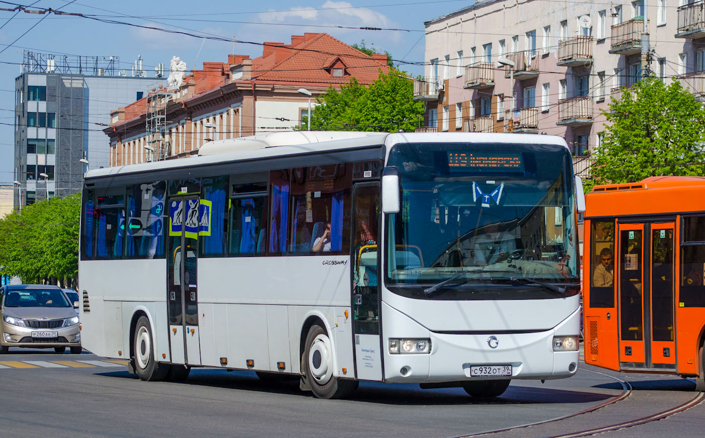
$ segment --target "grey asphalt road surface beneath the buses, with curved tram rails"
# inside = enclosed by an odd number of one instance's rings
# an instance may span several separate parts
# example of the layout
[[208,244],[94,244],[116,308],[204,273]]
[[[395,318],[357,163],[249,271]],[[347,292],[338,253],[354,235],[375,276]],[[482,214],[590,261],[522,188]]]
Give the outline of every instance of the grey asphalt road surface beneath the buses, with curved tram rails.
[[[599,411],[491,435],[541,437],[619,423],[693,396],[694,384],[678,377],[581,365],[570,379],[515,381],[491,403],[474,401],[462,389],[368,382],[352,399],[319,400],[300,392],[298,382],[261,382],[251,372],[194,369],[185,383],[142,382],[121,363],[90,353],[17,350],[0,356],[0,430],[8,437],[457,437],[596,406],[622,392],[610,375],[635,387],[627,399]],[[696,437],[703,430],[701,404],[608,435]]]

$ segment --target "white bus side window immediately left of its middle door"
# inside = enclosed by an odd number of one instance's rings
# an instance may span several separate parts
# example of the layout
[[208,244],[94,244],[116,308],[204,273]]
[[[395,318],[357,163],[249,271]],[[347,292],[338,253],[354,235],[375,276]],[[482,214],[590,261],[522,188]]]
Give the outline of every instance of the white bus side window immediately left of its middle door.
[[125,258],[164,258],[166,182],[128,186]]

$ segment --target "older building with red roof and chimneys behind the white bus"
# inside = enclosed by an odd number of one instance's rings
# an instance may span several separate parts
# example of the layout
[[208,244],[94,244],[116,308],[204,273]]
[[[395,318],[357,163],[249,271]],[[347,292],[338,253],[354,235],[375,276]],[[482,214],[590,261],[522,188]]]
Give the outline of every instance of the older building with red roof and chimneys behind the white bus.
[[[203,63],[178,87],[154,87],[111,111],[111,165],[196,154],[210,140],[301,126],[309,101],[355,77],[372,84],[388,73],[384,54],[368,56],[326,33],[293,35],[290,44],[264,42],[262,56],[229,55]],[[303,89],[304,92],[300,90]],[[309,94],[305,94],[309,93]],[[305,127],[305,126],[303,126]]]

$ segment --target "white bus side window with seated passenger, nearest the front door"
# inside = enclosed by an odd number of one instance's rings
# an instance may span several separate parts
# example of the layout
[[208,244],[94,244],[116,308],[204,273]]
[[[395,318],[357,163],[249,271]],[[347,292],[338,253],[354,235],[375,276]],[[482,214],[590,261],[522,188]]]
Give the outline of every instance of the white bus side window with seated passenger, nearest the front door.
[[350,250],[349,165],[292,170],[289,252],[347,254]]

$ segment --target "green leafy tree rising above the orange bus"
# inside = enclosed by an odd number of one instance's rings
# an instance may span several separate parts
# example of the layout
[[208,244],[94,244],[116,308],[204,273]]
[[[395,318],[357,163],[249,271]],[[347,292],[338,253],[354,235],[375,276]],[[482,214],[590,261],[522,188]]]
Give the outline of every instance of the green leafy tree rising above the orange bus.
[[680,82],[645,77],[609,107],[589,189],[649,176],[705,175],[705,109]]

